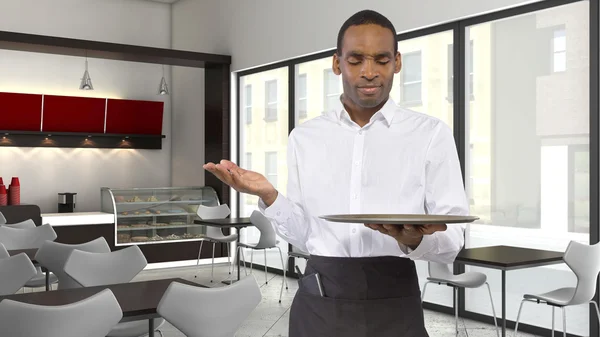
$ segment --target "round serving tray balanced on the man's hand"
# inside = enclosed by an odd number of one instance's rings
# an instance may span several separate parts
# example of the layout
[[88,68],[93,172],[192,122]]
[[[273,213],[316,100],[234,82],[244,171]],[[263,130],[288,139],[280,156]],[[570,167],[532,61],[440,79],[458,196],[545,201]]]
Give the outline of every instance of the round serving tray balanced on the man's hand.
[[470,215],[441,214],[335,214],[319,218],[332,222],[386,225],[463,224],[479,220]]

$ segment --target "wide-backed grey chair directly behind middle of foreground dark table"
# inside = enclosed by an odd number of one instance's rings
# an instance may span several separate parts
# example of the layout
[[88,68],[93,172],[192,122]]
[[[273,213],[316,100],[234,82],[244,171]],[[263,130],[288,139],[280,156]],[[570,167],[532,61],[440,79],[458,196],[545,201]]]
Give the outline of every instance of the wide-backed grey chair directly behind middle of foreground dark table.
[[[69,277],[84,287],[130,282],[148,262],[138,246],[107,253],[92,253],[73,250],[67,259],[64,271]],[[154,330],[165,323],[162,318],[154,320]],[[119,323],[107,337],[139,337],[148,334],[145,320]]]

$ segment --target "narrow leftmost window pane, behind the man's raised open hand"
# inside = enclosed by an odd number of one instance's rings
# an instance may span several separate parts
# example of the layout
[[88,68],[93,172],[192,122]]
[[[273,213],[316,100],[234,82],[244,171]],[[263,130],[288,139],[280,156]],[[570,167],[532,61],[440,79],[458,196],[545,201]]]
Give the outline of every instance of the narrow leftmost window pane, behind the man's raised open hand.
[[[252,102],[251,112],[242,113],[240,125],[239,153],[242,168],[259,172],[280,191],[287,190],[287,139],[288,139],[288,68],[282,67],[260,73],[240,77],[240,88],[251,87],[253,90],[242,90],[240,100]],[[251,98],[247,97],[252,95]],[[261,116],[248,124],[244,121],[248,115]],[[258,197],[241,193],[240,216],[248,217],[252,211],[258,210]],[[246,243],[256,243],[260,238],[258,229],[248,227],[240,232],[240,240]],[[287,242],[279,239],[279,247],[284,258],[287,254]],[[251,251],[246,250],[245,256],[250,262]],[[254,254],[255,264],[264,265],[264,254]],[[279,251],[267,251],[267,266],[282,269]],[[260,272],[255,268],[254,272]],[[263,269],[264,272],[264,269]],[[257,276],[260,281],[261,278]]]

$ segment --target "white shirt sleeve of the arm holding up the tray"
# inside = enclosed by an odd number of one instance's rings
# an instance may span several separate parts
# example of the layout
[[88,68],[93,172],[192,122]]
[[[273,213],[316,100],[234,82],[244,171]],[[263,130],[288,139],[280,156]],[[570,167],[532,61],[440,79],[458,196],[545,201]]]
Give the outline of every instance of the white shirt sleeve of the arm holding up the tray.
[[[450,128],[441,122],[427,151],[425,184],[427,214],[469,214],[454,137]],[[464,246],[465,228],[465,224],[449,224],[443,232],[423,236],[415,250],[408,247],[402,250],[413,260],[453,263]]]

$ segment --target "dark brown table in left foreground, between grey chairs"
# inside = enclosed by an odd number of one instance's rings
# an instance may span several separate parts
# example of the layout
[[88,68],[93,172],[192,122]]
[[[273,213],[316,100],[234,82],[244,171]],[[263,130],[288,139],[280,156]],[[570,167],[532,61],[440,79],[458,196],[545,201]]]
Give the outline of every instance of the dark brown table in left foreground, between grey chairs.
[[171,278],[0,296],[0,301],[10,299],[37,305],[65,305],[81,301],[108,288],[113,292],[123,310],[121,322],[147,319],[149,337],[153,337],[154,329],[152,328],[154,326],[154,318],[160,317],[156,313],[156,308],[158,307],[163,294],[172,282],[202,287],[197,283],[186,281],[181,278]]

